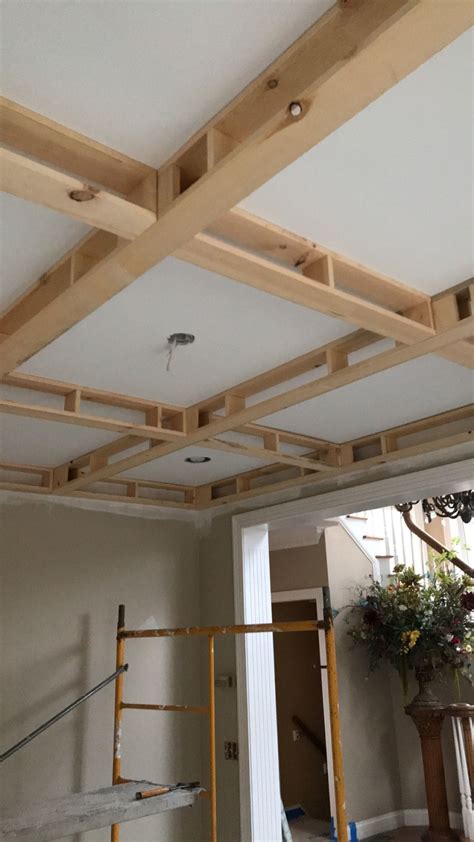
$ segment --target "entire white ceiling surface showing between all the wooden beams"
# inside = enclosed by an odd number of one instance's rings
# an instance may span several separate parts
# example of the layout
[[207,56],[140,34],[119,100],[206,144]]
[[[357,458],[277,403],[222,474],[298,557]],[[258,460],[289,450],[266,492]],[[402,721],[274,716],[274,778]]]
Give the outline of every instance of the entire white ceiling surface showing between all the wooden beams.
[[[158,165],[330,5],[116,0],[111,16],[108,0],[3,0],[4,93]],[[238,49],[229,49],[230,38]],[[472,272],[471,69],[467,34],[243,206],[420,289],[464,280]],[[13,197],[4,197],[0,213],[6,306],[87,229]],[[169,258],[22,370],[191,404],[350,329]],[[196,342],[178,349],[167,373],[166,338],[174,331],[194,333]],[[469,371],[430,357],[266,423],[346,440],[466,404],[472,394]],[[6,461],[60,464],[113,438],[13,416],[1,423]],[[207,465],[188,465],[182,451],[131,474],[200,484],[262,464],[203,452],[212,456]]]

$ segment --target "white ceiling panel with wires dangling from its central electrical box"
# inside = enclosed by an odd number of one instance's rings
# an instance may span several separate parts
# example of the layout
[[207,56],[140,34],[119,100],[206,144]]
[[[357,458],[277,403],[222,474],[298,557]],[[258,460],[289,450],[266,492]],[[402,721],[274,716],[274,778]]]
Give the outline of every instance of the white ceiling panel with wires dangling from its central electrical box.
[[[168,258],[21,367],[162,402],[192,404],[350,331],[244,284]],[[169,371],[167,337],[177,347]]]

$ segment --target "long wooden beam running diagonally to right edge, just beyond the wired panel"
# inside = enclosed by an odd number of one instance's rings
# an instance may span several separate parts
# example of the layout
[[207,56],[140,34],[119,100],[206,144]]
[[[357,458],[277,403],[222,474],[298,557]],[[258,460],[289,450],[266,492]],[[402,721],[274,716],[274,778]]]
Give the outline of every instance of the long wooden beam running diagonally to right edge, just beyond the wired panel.
[[373,374],[387,371],[394,366],[401,365],[426,354],[436,353],[440,349],[470,336],[473,325],[474,316],[469,316],[453,327],[428,339],[424,339],[421,342],[384,351],[361,362],[353,363],[352,365],[349,364],[344,368],[334,371],[332,374],[327,374],[325,377],[289,389],[251,406],[246,406],[230,415],[220,416],[217,420],[212,420],[210,423],[201,427],[198,426],[198,416],[195,414],[196,426],[194,429],[188,430],[187,435],[181,442],[168,442],[152,446],[149,450],[125,457],[113,464],[106,464],[98,469],[94,468],[89,471],[87,476],[81,476],[71,481],[68,481],[63,476],[58,477],[57,493],[68,494],[69,491],[83,488],[90,482],[105,479],[113,474],[120,474],[138,465],[143,465],[162,456],[167,456],[170,453],[181,450],[183,447],[188,447],[191,444],[199,444],[200,442],[215,438],[221,433],[235,430],[242,424],[255,421],[258,418],[278,412],[289,406],[310,400],[318,395],[327,394],[335,389],[358,382]]

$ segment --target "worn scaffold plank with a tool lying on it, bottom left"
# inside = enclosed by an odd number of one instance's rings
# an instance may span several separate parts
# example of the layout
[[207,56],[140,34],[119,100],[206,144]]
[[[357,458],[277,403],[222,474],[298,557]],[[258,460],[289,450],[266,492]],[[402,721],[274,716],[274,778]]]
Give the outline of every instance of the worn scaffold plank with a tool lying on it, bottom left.
[[0,819],[0,839],[2,842],[7,839],[23,842],[62,839],[73,833],[129,822],[178,807],[192,807],[202,792],[200,787],[176,789],[154,798],[136,800],[137,792],[156,786],[159,784],[151,781],[136,781],[17,808]]

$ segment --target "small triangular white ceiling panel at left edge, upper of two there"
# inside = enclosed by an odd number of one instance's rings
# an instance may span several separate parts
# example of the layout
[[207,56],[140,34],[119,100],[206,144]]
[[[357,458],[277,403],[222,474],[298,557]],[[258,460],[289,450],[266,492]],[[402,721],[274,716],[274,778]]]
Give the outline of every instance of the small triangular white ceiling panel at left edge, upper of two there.
[[38,281],[89,230],[60,213],[0,194],[0,309]]

